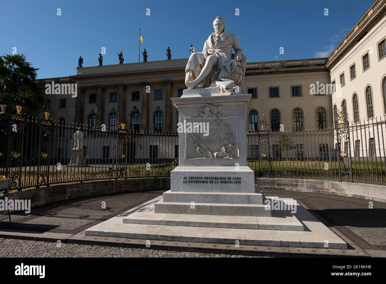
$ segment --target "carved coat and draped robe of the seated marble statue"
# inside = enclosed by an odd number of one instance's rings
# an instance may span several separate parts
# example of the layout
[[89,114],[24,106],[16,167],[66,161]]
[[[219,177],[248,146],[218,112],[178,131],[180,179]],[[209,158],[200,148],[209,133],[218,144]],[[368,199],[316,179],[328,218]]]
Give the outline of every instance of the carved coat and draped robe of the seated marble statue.
[[237,65],[240,65],[236,60],[232,60],[232,48],[239,56],[242,56],[243,50],[239,44],[239,40],[234,34],[228,34],[224,31],[216,40],[215,32],[213,32],[205,41],[203,51],[190,55],[185,68],[185,82],[195,80],[194,70],[196,70],[198,66],[203,68],[208,56],[214,54],[218,58],[218,66],[213,66],[212,71],[203,80],[204,87],[217,86],[220,87],[222,91],[232,88],[233,81],[230,80],[230,75]]

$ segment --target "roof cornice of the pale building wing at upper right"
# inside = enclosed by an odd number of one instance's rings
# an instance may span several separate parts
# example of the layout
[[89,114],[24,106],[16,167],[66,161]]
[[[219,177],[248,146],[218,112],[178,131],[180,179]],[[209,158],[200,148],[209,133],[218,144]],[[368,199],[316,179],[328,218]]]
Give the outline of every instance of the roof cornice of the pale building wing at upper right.
[[328,56],[326,67],[331,70],[337,62],[357,44],[362,36],[374,27],[386,14],[386,0],[376,0]]

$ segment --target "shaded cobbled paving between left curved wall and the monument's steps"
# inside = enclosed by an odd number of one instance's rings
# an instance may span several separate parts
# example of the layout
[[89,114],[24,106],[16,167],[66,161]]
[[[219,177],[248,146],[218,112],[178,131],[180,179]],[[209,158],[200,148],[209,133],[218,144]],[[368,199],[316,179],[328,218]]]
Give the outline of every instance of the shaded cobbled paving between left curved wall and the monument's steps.
[[[9,224],[8,219],[4,219],[0,221],[0,228],[76,234],[162,193],[162,190],[129,192],[55,202],[32,209],[30,214],[12,214],[12,225]],[[103,204],[105,209],[102,207]]]

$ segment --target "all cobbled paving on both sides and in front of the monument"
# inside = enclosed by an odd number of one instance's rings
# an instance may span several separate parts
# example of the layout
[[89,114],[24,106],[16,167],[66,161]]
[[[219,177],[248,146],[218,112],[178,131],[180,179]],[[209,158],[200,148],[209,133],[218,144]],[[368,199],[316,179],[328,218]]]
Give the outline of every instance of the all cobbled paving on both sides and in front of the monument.
[[[80,234],[85,229],[101,223],[130,208],[162,195],[163,191],[130,192],[111,194],[69,201],[56,202],[32,209],[30,214],[12,214],[12,224],[7,219],[0,221],[2,239],[1,257],[57,257],[57,256],[106,256],[106,257],[230,257],[234,252],[203,253],[150,250],[140,247],[104,247],[93,243],[66,243],[65,238]],[[284,190],[265,190],[264,194],[283,198],[292,197],[328,226],[334,233],[370,256],[386,256],[386,204],[354,197],[334,196]],[[102,209],[102,203],[106,209]],[[4,215],[5,217],[6,215]],[[18,240],[32,234],[34,240]],[[50,241],[44,237],[51,234]],[[62,239],[57,247],[54,238]],[[8,239],[12,238],[12,239]],[[45,255],[44,255],[45,254]],[[362,253],[363,254],[363,253]]]

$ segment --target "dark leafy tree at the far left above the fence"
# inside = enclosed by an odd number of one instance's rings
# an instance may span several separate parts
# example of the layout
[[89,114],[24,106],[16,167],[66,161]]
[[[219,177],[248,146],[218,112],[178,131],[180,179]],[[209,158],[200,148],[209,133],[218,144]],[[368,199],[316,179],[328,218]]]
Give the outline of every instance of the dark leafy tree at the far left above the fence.
[[39,68],[25,60],[24,54],[0,56],[0,90],[7,94],[5,99],[9,103],[19,95],[27,109],[36,109],[43,104],[44,97],[34,82],[37,70]]

